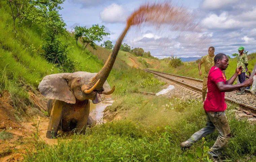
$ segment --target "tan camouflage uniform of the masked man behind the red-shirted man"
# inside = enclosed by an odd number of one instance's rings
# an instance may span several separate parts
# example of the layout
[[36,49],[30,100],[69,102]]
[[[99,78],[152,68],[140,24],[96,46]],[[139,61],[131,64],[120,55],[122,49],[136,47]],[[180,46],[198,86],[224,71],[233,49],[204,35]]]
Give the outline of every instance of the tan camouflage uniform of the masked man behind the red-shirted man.
[[214,56],[211,57],[209,54],[207,54],[202,57],[201,62],[202,64],[204,64],[202,97],[205,98],[206,91],[207,91],[207,77],[210,69],[214,66]]

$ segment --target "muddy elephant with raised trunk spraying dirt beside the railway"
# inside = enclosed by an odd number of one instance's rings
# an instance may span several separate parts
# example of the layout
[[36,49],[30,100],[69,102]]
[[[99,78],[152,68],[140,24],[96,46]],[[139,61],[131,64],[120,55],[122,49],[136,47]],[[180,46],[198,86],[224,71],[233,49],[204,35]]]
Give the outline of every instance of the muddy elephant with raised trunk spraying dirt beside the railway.
[[110,88],[106,79],[128,30],[129,27],[126,27],[118,38],[112,53],[98,73],[60,73],[47,75],[42,79],[38,89],[42,95],[51,99],[48,105],[50,122],[47,138],[55,137],[59,129],[85,133],[87,125],[93,125],[93,120],[89,117],[89,99],[97,104],[104,99],[104,95],[114,92],[115,86]]

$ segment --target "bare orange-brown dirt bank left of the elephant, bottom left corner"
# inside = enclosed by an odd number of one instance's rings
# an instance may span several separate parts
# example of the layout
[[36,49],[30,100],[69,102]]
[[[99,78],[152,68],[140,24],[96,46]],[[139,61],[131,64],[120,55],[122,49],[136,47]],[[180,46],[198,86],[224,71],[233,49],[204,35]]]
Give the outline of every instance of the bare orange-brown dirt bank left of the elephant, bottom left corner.
[[[10,94],[4,91],[0,97],[0,161],[20,161],[26,150],[34,148],[37,139],[44,139],[49,118],[44,114],[46,99],[29,91],[33,107],[25,116],[10,104]],[[18,117],[17,117],[18,116]],[[39,123],[40,122],[40,123]]]

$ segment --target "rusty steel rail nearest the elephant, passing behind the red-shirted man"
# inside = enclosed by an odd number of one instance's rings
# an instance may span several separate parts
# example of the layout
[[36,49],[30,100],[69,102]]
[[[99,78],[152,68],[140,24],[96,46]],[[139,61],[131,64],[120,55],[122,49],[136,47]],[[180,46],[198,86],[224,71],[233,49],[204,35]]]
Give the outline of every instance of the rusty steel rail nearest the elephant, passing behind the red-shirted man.
[[[200,93],[202,93],[202,89],[201,89],[201,88],[198,88],[198,87],[195,87],[195,86],[192,86],[192,85],[189,85],[189,84],[186,84],[186,83],[183,83],[183,82],[180,82],[180,81],[177,81],[177,80],[174,80],[174,79],[171,79],[171,78],[168,78],[168,77],[165,77],[165,76],[160,75],[160,74],[163,73],[163,72],[153,71],[153,70],[149,70],[149,69],[144,69],[144,70],[147,71],[147,72],[153,73],[153,74],[155,74],[155,75],[157,75],[157,76],[160,76],[160,77],[162,77],[162,78],[164,78],[164,79],[167,79],[167,80],[170,80],[170,81],[172,81],[172,82],[178,83],[178,84],[180,84],[180,85],[185,85],[186,87],[192,88],[192,89],[194,89],[194,90],[199,91]],[[157,74],[157,73],[160,73],[160,74]],[[168,74],[168,73],[163,73],[163,74]],[[178,75],[177,75],[177,76],[178,76]],[[256,112],[256,107],[253,107],[253,106],[251,106],[251,105],[237,102],[236,100],[233,100],[233,99],[231,99],[231,98],[229,98],[229,97],[225,97],[225,100],[227,100],[227,101],[229,101],[229,102],[232,102],[232,103],[235,103],[235,104],[238,104],[238,105],[240,105],[240,106],[249,108],[249,109],[252,110],[253,112]],[[254,117],[256,117],[255,114],[252,114],[252,115],[253,115]]]

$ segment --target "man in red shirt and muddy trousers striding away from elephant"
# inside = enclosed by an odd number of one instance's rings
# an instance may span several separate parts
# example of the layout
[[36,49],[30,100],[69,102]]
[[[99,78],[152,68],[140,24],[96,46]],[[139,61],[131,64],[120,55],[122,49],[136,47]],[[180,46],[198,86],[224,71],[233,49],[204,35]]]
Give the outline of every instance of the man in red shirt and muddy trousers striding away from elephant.
[[253,80],[252,78],[249,78],[241,84],[232,85],[236,77],[241,74],[242,67],[238,67],[235,74],[229,80],[226,80],[226,76],[222,71],[226,70],[228,67],[228,57],[223,53],[218,53],[214,57],[214,64],[215,65],[211,68],[208,75],[208,93],[203,105],[207,116],[206,127],[195,132],[188,140],[181,143],[181,147],[190,148],[193,143],[214,132],[216,128],[219,132],[219,136],[213,147],[210,149],[209,154],[214,158],[217,158],[231,136],[228,120],[225,114],[227,108],[227,104],[225,103],[225,92],[249,86],[252,84]]

